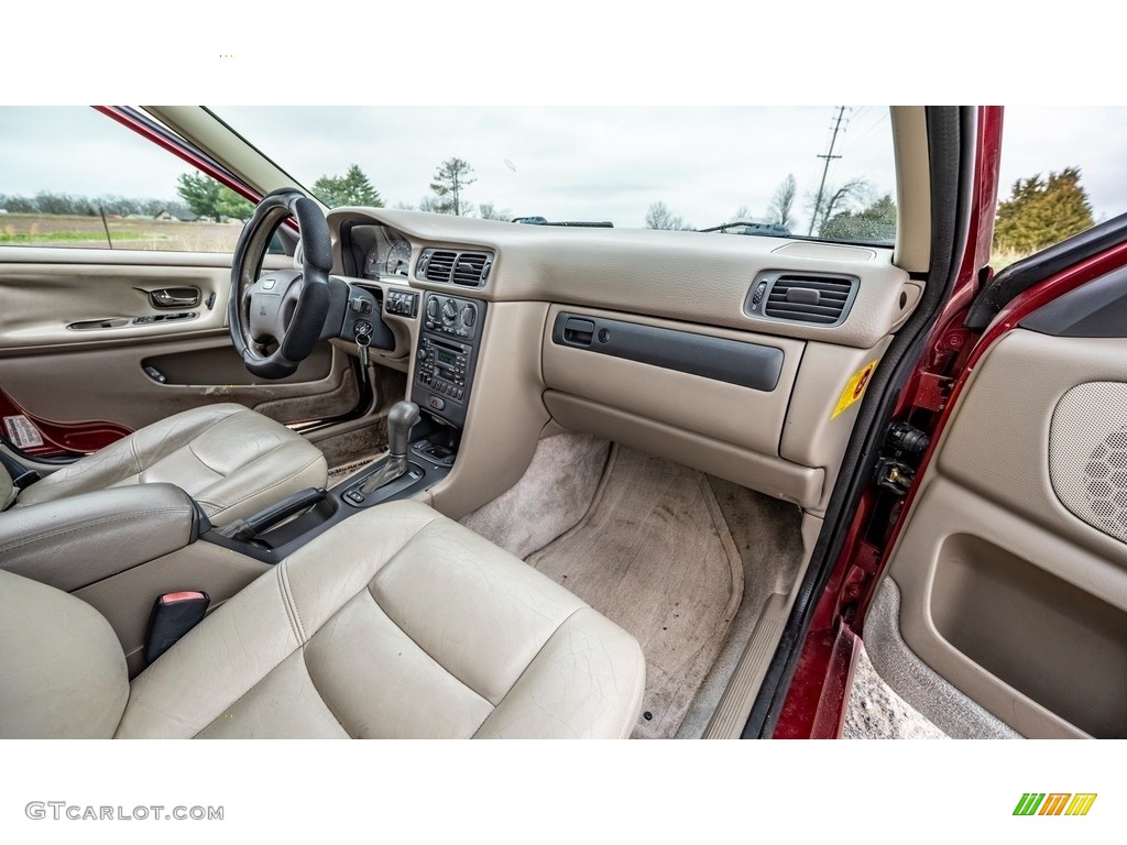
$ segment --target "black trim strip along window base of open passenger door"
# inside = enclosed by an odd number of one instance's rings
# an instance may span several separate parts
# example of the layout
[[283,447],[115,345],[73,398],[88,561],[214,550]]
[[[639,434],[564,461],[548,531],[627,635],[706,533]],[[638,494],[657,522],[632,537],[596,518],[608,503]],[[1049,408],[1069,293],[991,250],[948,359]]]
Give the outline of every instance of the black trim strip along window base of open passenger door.
[[1127,214],[1120,214],[1037,255],[1011,264],[994,276],[978,295],[964,326],[983,331],[1018,294],[1124,241],[1127,241]]

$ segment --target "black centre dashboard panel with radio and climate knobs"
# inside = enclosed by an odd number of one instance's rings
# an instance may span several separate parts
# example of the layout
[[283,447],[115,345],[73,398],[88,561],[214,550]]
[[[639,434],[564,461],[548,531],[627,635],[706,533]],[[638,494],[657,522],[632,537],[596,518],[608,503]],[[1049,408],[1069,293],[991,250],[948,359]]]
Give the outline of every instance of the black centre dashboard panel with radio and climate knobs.
[[411,401],[456,428],[465,425],[486,303],[427,293]]

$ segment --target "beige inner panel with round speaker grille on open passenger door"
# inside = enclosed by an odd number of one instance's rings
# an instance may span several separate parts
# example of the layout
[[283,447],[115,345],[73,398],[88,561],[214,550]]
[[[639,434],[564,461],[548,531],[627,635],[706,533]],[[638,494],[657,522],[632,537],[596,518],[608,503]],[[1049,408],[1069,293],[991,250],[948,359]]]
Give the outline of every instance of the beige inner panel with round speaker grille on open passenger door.
[[1127,340],[1006,335],[888,569],[906,643],[1029,737],[1127,736],[1125,395]]

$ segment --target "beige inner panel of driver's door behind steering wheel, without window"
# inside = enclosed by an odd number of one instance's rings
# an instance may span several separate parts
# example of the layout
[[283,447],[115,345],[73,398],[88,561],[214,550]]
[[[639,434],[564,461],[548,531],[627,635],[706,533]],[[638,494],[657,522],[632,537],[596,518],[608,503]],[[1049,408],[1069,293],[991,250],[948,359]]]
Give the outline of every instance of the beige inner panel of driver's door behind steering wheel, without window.
[[[355,409],[352,358],[328,343],[289,379],[247,372],[225,328],[230,273],[220,255],[0,249],[0,388],[34,417],[130,429],[214,402],[282,422]],[[180,306],[158,308],[150,294],[180,287],[198,290],[199,304],[165,319]]]

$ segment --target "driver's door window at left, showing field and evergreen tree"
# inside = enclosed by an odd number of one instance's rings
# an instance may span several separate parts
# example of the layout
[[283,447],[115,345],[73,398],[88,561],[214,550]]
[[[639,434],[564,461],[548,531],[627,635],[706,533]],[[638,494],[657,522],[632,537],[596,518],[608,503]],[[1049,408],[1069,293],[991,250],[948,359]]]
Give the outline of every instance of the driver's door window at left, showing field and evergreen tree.
[[231,252],[252,208],[92,108],[0,108],[0,246]]

